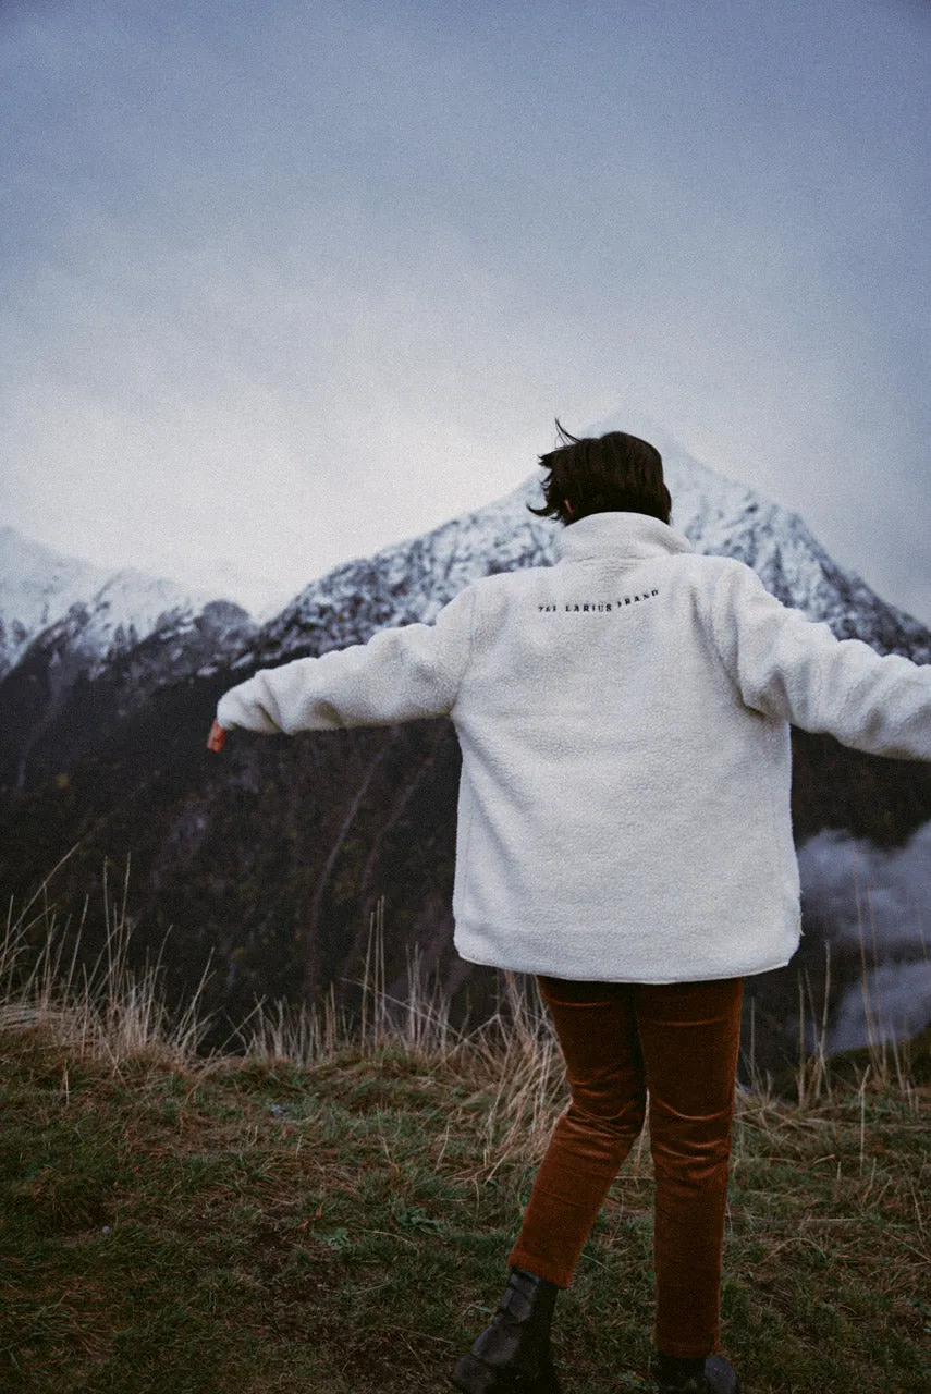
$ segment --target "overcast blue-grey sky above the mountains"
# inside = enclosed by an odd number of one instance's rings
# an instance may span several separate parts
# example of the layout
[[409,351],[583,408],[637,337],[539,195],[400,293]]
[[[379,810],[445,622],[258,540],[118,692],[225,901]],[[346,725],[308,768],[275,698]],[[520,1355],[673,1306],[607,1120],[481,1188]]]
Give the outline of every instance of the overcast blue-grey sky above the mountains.
[[620,414],[931,625],[930,107],[927,0],[3,0],[0,523],[284,597]]

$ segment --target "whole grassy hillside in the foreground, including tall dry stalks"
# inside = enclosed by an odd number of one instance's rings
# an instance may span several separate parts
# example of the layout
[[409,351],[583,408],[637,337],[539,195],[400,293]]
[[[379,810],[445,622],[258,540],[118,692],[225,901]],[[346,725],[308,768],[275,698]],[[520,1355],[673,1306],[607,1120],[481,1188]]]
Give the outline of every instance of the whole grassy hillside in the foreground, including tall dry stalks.
[[[81,980],[47,906],[6,928],[0,1387],[450,1388],[569,1097],[542,1005],[503,974],[456,1036],[414,962],[399,1012],[375,920],[353,1034],[263,1006],[208,1057],[197,999],[169,1020],[106,917]],[[747,1394],[931,1388],[927,1034],[739,1093],[722,1337]],[[645,1131],[557,1301],[567,1394],[651,1387],[652,1179]]]

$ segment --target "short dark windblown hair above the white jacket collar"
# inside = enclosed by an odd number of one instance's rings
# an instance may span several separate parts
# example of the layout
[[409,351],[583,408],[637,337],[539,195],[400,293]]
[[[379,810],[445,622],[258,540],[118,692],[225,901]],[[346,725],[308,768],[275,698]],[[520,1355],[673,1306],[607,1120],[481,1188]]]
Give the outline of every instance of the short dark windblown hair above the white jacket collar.
[[559,418],[556,429],[562,445],[539,456],[541,466],[549,470],[544,482],[546,502],[542,509],[528,503],[531,513],[560,519],[566,526],[590,513],[647,513],[669,523],[672,499],[655,446],[624,431],[580,439],[563,431]]

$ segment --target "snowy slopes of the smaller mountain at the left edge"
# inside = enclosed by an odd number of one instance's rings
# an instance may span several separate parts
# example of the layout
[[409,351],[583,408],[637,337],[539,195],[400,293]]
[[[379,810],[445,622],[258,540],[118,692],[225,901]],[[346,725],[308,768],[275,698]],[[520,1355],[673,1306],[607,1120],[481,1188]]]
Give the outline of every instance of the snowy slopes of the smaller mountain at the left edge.
[[132,567],[110,573],[0,528],[0,679],[46,634],[66,640],[93,677],[160,625],[191,623],[210,604],[216,592]]

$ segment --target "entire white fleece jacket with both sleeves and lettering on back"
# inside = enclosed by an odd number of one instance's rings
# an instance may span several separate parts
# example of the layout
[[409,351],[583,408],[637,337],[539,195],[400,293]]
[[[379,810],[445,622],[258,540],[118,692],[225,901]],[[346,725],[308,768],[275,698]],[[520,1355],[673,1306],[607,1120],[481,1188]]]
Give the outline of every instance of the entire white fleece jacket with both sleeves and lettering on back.
[[556,546],[433,625],[258,672],[219,725],[450,717],[472,963],[634,983],[782,967],[801,935],[789,723],[931,760],[931,666],[836,640],[640,513],[580,519]]

